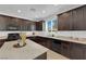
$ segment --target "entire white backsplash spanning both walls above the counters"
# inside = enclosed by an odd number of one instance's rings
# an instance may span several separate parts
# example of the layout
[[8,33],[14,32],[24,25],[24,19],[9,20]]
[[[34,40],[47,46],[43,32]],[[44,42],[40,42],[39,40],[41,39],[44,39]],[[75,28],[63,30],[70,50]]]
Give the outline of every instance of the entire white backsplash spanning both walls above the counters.
[[[11,33],[21,33],[21,31],[0,31],[0,37],[8,37],[8,34]],[[32,36],[33,33],[35,33],[35,36],[49,36],[49,35],[54,35],[54,36],[65,36],[65,37],[76,37],[76,38],[86,38],[86,31],[85,30],[75,30],[75,31],[56,31],[56,33],[48,33],[48,31],[24,31],[26,33],[27,36]]]

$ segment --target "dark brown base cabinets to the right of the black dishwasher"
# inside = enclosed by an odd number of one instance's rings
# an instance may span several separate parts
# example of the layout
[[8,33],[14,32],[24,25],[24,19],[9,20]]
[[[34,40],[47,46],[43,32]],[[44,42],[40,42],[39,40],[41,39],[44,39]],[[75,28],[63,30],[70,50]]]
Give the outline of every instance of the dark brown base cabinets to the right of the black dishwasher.
[[76,42],[61,41],[61,54],[71,60],[86,60],[86,46]]

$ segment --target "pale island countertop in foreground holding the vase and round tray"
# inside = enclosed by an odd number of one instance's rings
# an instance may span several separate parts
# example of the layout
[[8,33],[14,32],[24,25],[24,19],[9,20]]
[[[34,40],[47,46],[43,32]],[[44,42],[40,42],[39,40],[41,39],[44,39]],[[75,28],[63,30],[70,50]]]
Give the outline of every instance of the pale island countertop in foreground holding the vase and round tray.
[[33,60],[42,53],[47,52],[48,49],[27,39],[26,46],[23,48],[13,48],[16,41],[8,41],[0,49],[1,60]]

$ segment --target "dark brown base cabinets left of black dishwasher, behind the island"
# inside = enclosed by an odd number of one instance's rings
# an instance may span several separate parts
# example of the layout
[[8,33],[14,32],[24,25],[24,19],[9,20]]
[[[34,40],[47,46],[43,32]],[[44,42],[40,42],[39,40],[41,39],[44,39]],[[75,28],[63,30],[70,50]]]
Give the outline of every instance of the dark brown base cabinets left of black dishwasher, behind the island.
[[44,38],[44,37],[38,37],[38,36],[34,36],[34,37],[28,37],[30,40],[48,48],[48,49],[52,49],[52,40],[48,39],[48,38]]

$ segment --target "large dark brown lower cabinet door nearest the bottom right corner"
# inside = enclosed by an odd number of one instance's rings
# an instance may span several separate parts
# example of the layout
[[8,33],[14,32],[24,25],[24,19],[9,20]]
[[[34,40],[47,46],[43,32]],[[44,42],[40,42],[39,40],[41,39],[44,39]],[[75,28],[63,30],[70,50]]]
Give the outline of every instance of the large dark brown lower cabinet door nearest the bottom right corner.
[[73,60],[84,59],[84,49],[82,44],[77,44],[77,43],[71,44],[71,59]]

